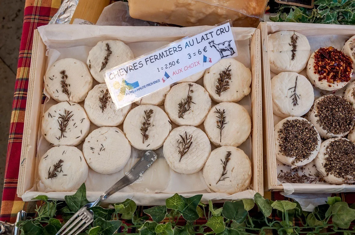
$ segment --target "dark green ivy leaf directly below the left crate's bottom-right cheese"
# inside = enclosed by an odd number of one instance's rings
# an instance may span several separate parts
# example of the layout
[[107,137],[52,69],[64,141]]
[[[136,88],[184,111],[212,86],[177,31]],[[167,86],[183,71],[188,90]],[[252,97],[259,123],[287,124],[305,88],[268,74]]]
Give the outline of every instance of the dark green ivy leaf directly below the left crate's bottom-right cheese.
[[226,201],[223,204],[222,214],[224,218],[241,224],[245,221],[248,212],[244,209],[244,204],[242,201]]

